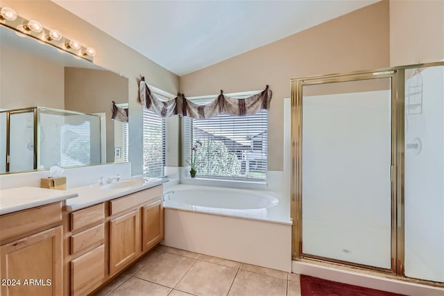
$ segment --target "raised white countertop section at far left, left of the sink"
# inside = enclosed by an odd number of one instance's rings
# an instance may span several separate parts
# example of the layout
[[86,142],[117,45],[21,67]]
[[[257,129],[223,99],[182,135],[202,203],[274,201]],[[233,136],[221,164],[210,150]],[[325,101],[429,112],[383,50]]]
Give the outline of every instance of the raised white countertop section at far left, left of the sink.
[[0,215],[39,207],[51,202],[59,202],[69,198],[76,198],[74,191],[44,189],[38,187],[17,187],[0,190]]

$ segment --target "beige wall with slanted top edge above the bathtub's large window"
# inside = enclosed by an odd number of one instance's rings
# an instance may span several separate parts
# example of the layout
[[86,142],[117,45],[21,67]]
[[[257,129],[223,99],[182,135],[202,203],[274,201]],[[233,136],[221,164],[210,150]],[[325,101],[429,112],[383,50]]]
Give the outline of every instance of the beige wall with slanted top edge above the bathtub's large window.
[[[270,85],[268,170],[283,169],[283,98],[291,78],[388,67],[388,1],[309,28],[180,78],[186,96],[245,92]],[[258,32],[259,34],[260,32]]]

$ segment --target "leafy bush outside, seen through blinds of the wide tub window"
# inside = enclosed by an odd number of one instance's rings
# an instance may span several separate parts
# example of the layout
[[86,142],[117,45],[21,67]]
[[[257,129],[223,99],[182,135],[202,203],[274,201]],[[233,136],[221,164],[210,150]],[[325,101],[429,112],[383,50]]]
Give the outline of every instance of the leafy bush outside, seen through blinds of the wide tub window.
[[[235,177],[241,171],[241,162],[230,153],[222,141],[201,139],[202,146],[196,150],[198,175]],[[204,160],[205,159],[205,160]]]

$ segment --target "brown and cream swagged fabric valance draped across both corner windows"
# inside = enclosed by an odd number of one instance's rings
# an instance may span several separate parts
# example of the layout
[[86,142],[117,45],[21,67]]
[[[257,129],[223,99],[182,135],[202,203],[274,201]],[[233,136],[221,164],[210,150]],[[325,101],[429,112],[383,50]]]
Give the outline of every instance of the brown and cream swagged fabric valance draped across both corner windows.
[[219,114],[246,116],[256,114],[263,109],[268,110],[271,90],[267,85],[262,92],[248,98],[230,98],[221,91],[214,101],[206,105],[198,105],[185,98],[184,94],[178,94],[170,101],[161,101],[142,80],[139,85],[139,96],[142,105],[163,118],[179,115],[193,119],[209,119]]

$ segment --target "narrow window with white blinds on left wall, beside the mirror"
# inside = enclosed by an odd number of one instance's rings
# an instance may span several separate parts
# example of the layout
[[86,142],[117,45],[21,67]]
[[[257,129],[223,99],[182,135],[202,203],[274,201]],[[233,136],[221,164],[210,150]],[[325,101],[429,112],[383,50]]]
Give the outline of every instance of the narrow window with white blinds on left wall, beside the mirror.
[[[153,90],[155,87],[151,87]],[[160,89],[153,90],[157,98],[168,101],[173,95],[162,92]],[[154,112],[144,108],[144,167],[146,177],[164,177],[166,159],[166,128],[165,119]]]

